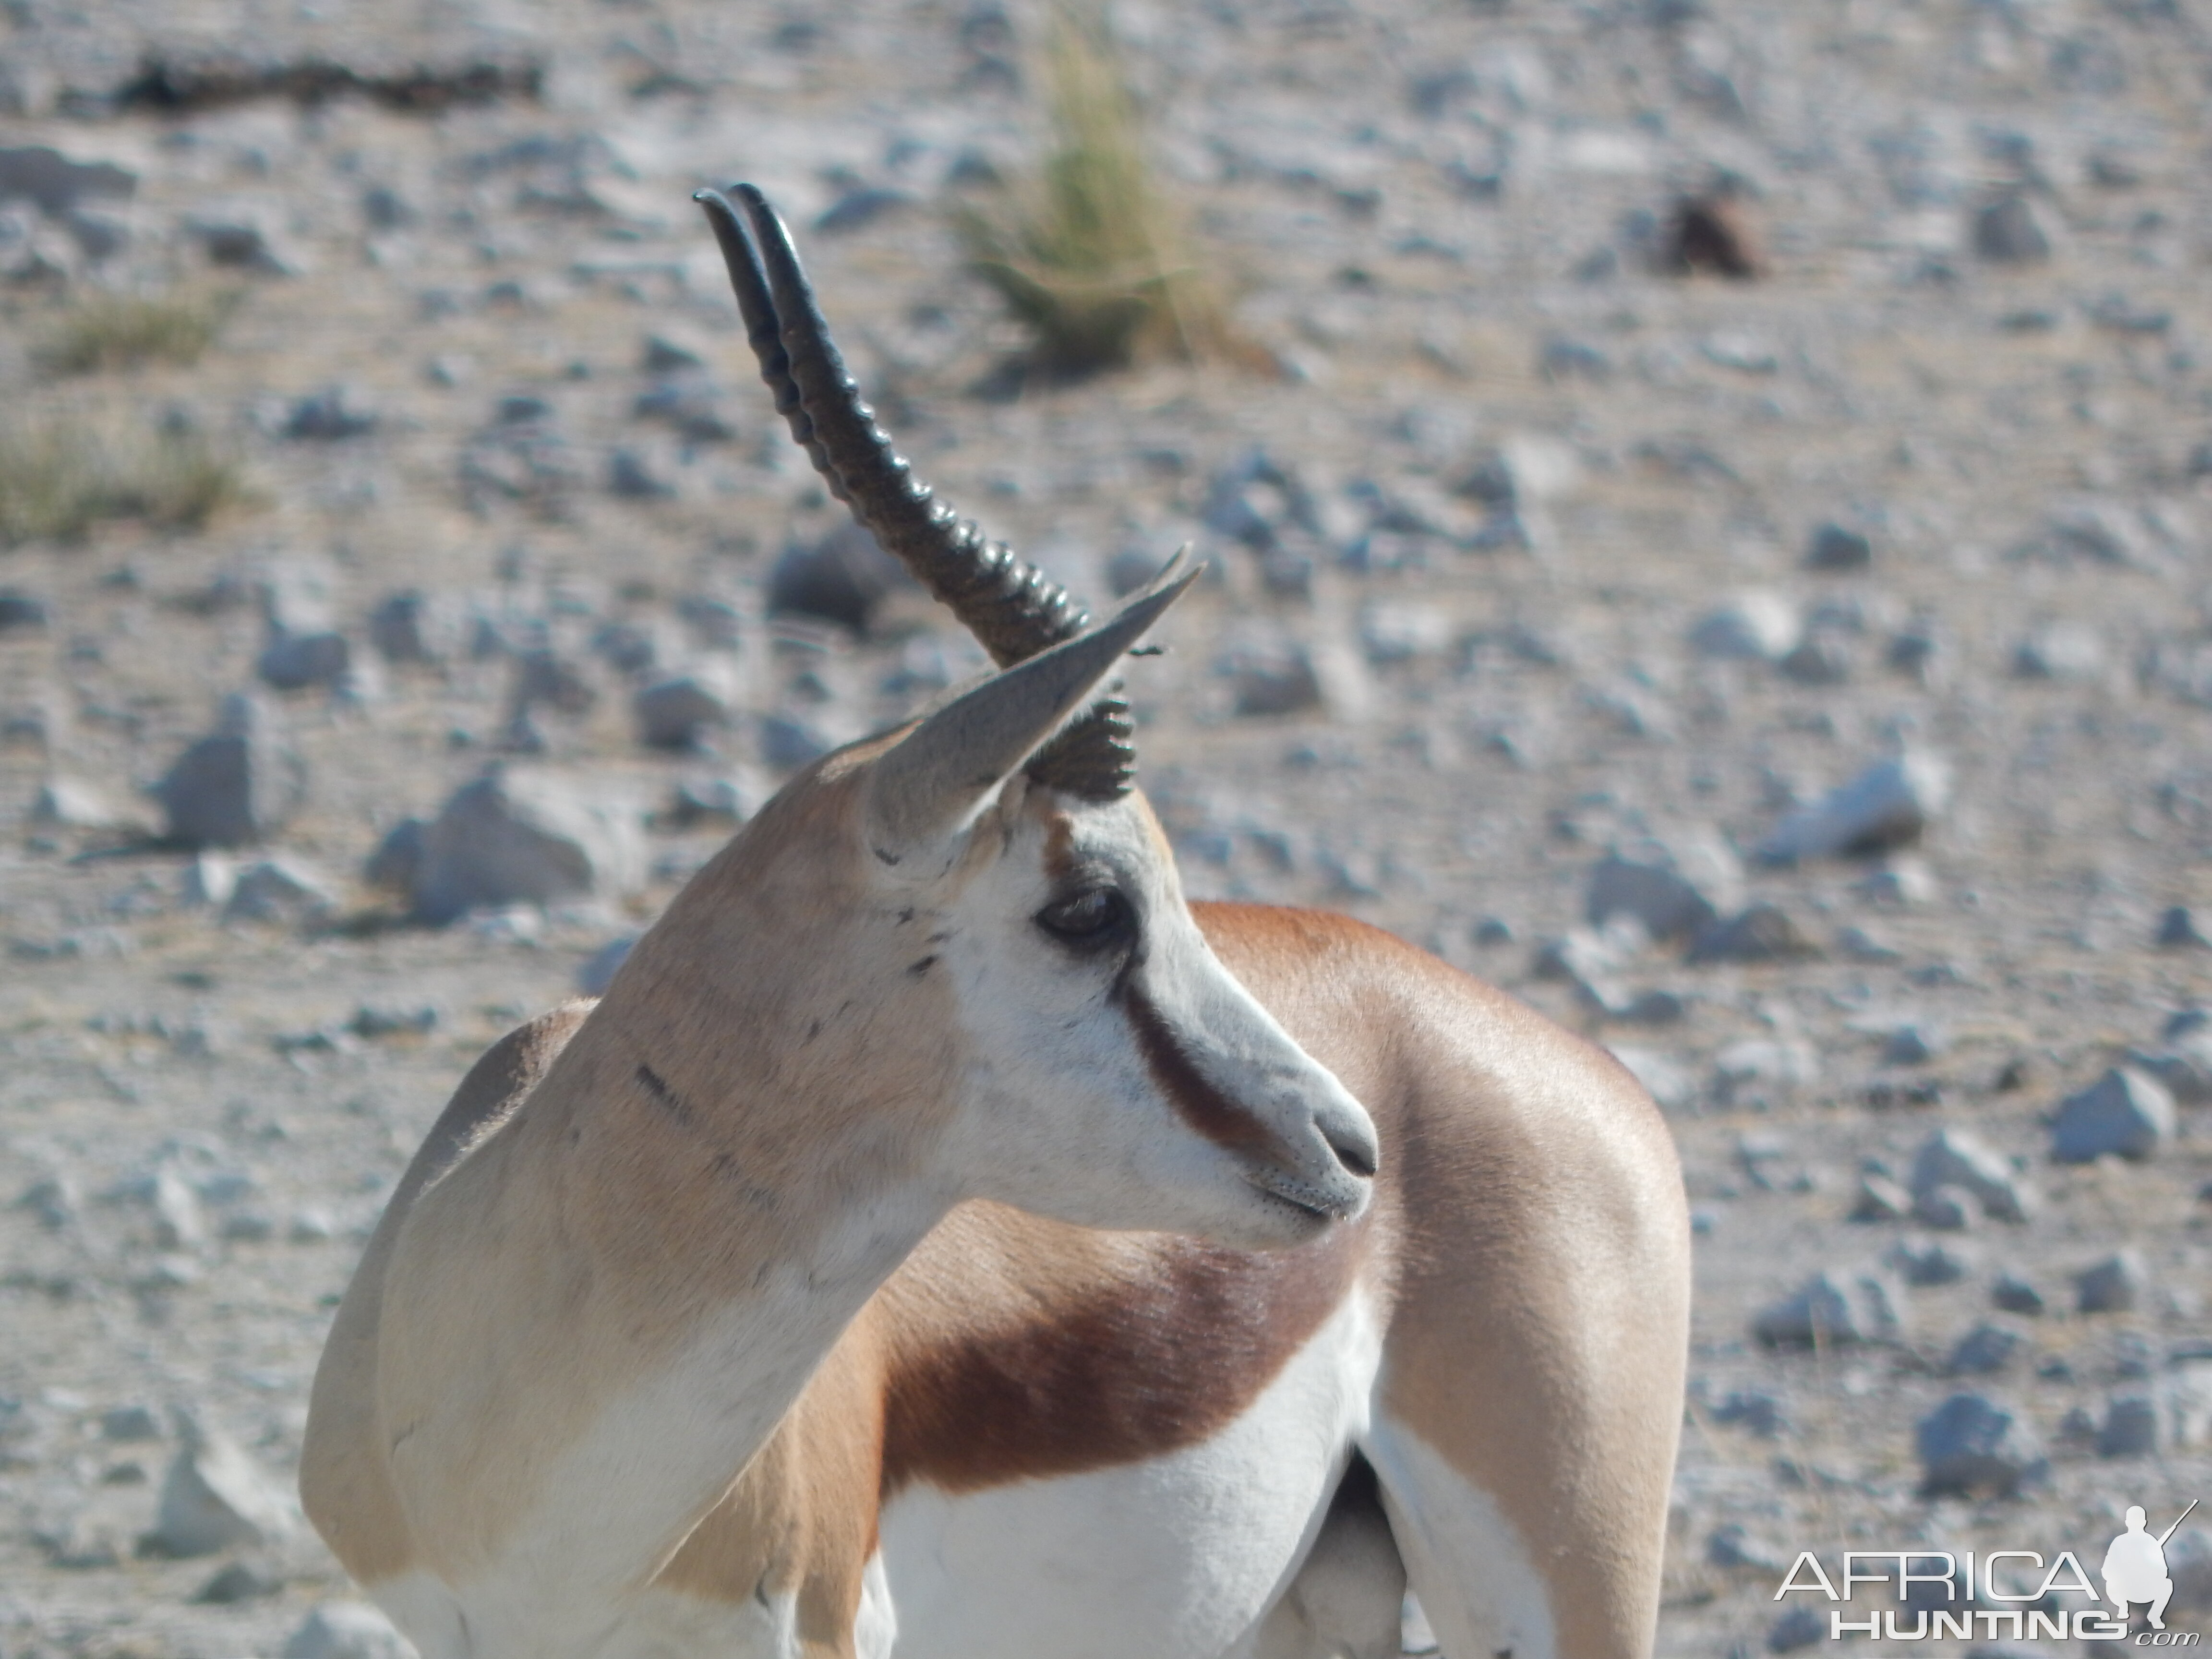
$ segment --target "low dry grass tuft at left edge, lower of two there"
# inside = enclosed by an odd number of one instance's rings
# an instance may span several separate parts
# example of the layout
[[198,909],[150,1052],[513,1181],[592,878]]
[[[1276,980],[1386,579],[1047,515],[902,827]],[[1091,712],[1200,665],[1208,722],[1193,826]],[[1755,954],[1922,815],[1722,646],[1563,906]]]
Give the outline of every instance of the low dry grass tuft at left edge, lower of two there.
[[73,542],[115,518],[199,529],[246,500],[237,462],[190,431],[75,420],[0,431],[0,546]]

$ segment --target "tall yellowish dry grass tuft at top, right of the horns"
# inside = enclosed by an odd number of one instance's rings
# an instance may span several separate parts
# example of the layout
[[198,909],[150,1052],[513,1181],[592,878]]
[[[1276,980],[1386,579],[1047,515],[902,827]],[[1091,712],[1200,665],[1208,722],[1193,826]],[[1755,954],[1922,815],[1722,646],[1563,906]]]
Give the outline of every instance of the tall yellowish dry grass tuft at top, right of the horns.
[[1102,13],[1053,13],[1044,77],[1053,153],[1042,173],[958,219],[973,270],[1035,330],[1033,365],[1088,374],[1159,356],[1265,358],[1230,327],[1152,179]]

